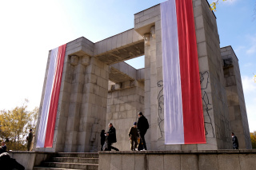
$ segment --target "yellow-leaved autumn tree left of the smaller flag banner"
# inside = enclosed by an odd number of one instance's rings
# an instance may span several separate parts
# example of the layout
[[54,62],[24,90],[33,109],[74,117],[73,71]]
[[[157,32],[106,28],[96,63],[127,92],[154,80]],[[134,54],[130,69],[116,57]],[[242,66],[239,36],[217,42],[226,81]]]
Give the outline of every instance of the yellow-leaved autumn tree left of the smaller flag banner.
[[28,129],[36,127],[38,108],[27,110],[28,101],[12,110],[0,111],[0,138],[6,140],[9,150],[26,150]]

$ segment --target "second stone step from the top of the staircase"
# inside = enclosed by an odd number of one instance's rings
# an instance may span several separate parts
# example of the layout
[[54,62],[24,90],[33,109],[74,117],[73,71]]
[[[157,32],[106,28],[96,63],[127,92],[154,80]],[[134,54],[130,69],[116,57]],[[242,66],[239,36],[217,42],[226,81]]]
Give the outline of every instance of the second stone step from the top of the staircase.
[[53,157],[53,162],[81,163],[81,164],[98,164],[98,158],[81,158],[81,157]]

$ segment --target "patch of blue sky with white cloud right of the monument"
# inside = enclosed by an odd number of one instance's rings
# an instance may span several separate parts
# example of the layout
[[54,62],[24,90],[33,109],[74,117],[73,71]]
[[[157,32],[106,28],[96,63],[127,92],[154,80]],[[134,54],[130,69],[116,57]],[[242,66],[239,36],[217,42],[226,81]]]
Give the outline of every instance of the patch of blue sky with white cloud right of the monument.
[[[220,45],[231,45],[239,61],[250,132],[256,131],[256,1],[219,2],[215,15]],[[254,74],[253,74],[254,73]]]

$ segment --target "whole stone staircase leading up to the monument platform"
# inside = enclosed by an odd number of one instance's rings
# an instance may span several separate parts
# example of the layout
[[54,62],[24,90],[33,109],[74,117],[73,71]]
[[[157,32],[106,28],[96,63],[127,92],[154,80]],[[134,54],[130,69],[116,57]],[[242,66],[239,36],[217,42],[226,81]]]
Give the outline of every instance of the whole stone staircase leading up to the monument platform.
[[34,167],[34,170],[98,170],[98,153],[69,153],[58,152],[49,161],[43,162],[42,166]]

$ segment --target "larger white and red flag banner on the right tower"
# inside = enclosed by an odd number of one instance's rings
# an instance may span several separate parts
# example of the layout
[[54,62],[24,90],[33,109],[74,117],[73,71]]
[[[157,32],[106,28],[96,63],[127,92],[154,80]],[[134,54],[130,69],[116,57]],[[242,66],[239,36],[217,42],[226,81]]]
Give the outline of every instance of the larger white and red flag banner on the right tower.
[[161,3],[165,144],[205,144],[191,0]]

